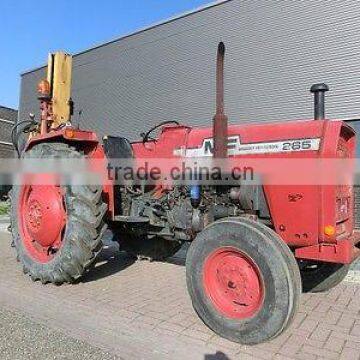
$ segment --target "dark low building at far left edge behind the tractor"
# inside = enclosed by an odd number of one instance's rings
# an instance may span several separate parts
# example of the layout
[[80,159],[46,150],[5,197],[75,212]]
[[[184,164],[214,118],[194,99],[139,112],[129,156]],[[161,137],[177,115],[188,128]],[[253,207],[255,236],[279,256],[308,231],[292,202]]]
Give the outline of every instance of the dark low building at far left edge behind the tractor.
[[0,106],[0,158],[13,157],[14,149],[11,143],[11,129],[17,120],[18,112]]

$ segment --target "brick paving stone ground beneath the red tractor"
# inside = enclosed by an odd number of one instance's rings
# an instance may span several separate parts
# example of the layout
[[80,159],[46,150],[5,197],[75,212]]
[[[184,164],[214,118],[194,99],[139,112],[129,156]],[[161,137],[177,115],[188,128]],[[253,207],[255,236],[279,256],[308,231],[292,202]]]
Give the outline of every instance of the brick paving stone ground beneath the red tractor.
[[[243,346],[215,335],[194,313],[181,260],[133,262],[113,247],[75,285],[33,283],[0,234],[0,307],[123,359],[360,359],[360,277],[303,294],[295,322],[277,339]],[[1,334],[0,334],[1,338]]]

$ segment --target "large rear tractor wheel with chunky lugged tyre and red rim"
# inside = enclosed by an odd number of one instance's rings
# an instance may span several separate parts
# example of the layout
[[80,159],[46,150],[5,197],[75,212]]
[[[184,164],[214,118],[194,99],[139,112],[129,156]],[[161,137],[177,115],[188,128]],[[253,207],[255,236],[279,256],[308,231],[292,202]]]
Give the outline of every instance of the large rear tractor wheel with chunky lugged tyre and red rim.
[[[24,154],[37,161],[81,157],[62,143],[39,144]],[[106,211],[101,186],[14,186],[11,229],[24,273],[34,281],[59,285],[81,277],[102,248]]]

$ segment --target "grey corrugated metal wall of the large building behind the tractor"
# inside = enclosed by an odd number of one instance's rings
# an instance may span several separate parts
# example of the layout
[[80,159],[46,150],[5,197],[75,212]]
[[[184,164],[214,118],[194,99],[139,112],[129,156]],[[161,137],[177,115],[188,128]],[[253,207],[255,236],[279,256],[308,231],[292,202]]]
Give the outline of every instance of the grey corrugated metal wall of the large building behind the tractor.
[[[311,118],[316,82],[331,88],[330,117],[360,117],[359,20],[357,1],[232,0],[78,54],[81,125],[134,140],[164,120],[210,124],[220,41],[231,122]],[[43,75],[23,75],[21,119],[38,114]]]

